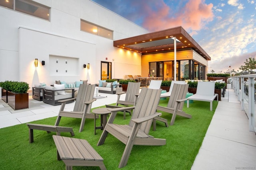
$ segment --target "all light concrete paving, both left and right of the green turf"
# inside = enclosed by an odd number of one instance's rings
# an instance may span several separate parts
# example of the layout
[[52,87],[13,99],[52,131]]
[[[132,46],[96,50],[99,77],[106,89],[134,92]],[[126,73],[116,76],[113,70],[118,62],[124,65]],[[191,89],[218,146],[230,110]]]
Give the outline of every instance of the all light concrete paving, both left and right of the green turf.
[[[115,94],[99,95],[106,98],[97,99],[92,108],[116,102]],[[32,96],[29,96],[29,100],[29,109],[16,111],[0,100],[0,128],[58,115],[60,106],[44,104],[32,99]],[[67,110],[73,107],[74,103],[66,105]],[[256,135],[249,131],[248,118],[240,107],[234,90],[226,90],[225,98],[218,103],[192,170],[256,169]]]

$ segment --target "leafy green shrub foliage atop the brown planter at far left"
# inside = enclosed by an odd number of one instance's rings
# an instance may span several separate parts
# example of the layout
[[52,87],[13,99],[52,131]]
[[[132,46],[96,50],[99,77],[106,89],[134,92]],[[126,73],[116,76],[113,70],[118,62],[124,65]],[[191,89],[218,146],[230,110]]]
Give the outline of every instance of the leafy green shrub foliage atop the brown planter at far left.
[[6,80],[5,82],[0,82],[0,87],[16,94],[27,93],[29,86],[26,82],[12,82]]

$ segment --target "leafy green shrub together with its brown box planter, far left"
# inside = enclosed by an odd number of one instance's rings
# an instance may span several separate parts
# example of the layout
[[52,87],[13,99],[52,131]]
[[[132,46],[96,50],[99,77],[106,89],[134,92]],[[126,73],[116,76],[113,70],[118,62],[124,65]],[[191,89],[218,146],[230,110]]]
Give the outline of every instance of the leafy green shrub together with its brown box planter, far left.
[[6,88],[8,104],[14,110],[28,108],[28,83],[5,81],[0,86]]

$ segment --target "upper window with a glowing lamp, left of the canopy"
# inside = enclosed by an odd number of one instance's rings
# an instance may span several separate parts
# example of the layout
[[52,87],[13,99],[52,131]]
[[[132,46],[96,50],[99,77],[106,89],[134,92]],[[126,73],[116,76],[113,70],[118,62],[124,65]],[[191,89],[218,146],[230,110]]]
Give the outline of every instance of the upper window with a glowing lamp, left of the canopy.
[[104,27],[100,27],[99,25],[81,20],[81,31],[86,31],[88,33],[92,33],[95,35],[99,35],[101,37],[105,37],[108,39],[113,39],[113,31],[106,29]]

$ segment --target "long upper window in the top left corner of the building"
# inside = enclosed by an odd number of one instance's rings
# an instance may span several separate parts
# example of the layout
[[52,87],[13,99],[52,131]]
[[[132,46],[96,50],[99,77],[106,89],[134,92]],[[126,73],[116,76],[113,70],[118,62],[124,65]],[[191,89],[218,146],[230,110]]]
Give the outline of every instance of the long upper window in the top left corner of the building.
[[1,0],[0,6],[50,20],[50,8],[31,0]]

